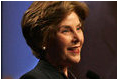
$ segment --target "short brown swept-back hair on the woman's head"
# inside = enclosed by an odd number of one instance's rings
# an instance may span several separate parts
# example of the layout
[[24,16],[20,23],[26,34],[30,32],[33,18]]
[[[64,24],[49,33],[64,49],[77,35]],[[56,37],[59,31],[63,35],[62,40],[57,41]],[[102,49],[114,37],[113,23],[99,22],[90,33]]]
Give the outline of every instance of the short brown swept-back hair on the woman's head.
[[36,1],[25,12],[23,35],[37,58],[43,59],[43,44],[48,42],[56,26],[72,11],[78,15],[81,23],[88,15],[87,5],[78,1]]

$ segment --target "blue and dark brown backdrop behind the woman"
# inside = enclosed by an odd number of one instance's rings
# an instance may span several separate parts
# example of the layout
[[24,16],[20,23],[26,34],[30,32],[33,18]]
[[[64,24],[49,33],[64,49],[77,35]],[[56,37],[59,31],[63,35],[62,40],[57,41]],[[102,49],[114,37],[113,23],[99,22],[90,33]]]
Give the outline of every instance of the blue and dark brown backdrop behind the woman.
[[[28,1],[2,2],[2,78],[19,78],[37,64],[21,31],[21,19]],[[117,1],[87,1],[85,43],[81,62],[70,69],[78,78],[97,75],[117,78]],[[91,73],[92,72],[92,73]],[[94,77],[95,78],[95,77]]]

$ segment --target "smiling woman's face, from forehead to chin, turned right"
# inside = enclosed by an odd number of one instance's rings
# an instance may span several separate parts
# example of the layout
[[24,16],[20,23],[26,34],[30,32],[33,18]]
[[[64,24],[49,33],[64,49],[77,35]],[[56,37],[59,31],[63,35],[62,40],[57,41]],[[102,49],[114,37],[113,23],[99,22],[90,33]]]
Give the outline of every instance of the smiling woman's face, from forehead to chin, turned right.
[[59,30],[48,46],[48,57],[59,65],[80,61],[84,42],[80,20],[75,12],[69,14],[58,26]]

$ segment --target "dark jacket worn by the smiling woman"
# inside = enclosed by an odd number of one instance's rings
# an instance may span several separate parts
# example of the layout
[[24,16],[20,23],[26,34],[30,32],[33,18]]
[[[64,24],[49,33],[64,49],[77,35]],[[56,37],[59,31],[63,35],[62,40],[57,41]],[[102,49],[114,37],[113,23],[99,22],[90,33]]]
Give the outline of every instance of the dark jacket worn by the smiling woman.
[[[74,79],[75,76],[68,72],[68,78]],[[24,74],[21,79],[68,79],[63,73],[56,70],[47,61],[40,60],[37,66],[30,72]]]

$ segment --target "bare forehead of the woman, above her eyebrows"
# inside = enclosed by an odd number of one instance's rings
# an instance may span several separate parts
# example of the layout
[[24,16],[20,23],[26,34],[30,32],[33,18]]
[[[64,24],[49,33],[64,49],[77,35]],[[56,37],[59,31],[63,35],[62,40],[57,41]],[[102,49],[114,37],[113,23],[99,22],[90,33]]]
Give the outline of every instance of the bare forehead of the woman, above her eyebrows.
[[75,12],[71,12],[61,23],[60,26],[69,25],[77,26],[81,24],[78,15]]

